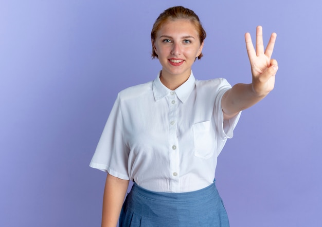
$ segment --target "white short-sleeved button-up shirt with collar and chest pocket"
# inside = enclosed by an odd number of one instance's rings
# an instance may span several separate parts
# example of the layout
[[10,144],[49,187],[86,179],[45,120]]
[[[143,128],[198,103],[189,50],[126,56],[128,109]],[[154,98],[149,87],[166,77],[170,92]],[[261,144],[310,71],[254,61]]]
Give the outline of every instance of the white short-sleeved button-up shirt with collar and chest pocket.
[[119,92],[90,166],[155,192],[190,192],[213,182],[220,154],[239,117],[225,120],[225,79],[174,91],[158,77]]

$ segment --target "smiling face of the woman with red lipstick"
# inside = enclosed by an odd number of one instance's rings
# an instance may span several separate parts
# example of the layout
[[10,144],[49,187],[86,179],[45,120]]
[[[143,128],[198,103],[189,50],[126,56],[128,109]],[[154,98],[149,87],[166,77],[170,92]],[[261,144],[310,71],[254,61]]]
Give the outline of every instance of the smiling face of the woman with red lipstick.
[[198,32],[188,20],[165,23],[157,32],[153,48],[162,65],[162,76],[187,79],[191,66],[202,51]]

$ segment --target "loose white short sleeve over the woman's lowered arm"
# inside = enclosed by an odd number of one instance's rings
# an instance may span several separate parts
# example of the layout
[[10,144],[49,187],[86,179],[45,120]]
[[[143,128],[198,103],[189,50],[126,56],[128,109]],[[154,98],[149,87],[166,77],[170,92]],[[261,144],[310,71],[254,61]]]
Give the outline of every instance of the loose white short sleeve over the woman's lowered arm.
[[129,180],[129,148],[124,141],[124,121],[119,95],[97,144],[90,166],[108,172],[114,177]]

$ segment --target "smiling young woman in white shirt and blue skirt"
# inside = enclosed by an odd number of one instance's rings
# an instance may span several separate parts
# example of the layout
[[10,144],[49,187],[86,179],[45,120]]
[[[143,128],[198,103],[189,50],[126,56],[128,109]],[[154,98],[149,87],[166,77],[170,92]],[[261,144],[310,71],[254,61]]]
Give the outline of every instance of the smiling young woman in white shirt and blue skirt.
[[[151,32],[157,78],[119,92],[90,166],[108,172],[102,226],[229,226],[214,183],[217,157],[240,111],[274,87],[276,34],[256,50],[245,34],[251,84],[196,81],[206,32],[199,17],[178,6],[159,15]],[[126,196],[129,180],[134,181]]]

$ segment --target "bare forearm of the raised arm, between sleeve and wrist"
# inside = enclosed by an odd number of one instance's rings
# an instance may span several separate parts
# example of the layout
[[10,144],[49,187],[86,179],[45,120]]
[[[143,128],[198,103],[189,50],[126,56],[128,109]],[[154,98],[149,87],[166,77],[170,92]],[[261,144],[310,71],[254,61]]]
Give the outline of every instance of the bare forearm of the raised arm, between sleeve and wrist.
[[221,106],[224,119],[230,119],[241,110],[247,109],[265,98],[269,92],[257,93],[252,84],[236,84],[226,91]]

